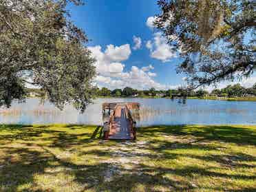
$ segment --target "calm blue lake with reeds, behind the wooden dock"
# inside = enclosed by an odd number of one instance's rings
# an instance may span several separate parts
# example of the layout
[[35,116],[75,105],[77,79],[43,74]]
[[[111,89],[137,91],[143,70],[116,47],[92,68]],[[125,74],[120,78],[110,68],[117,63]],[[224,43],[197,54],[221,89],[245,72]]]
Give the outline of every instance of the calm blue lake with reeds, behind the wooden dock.
[[26,103],[13,102],[10,109],[0,109],[0,123],[15,124],[87,124],[102,125],[101,104],[105,102],[138,102],[138,126],[180,124],[256,125],[256,102],[188,99],[183,103],[167,98],[98,98],[80,114],[72,105],[63,111],[49,102],[28,98]]

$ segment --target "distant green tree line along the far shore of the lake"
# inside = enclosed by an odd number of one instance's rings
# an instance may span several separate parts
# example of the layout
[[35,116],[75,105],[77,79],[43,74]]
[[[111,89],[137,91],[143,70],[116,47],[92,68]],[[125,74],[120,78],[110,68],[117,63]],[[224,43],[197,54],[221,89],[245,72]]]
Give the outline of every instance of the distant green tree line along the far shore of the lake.
[[243,87],[239,83],[235,85],[228,85],[223,89],[213,89],[212,92],[208,92],[204,89],[197,89],[189,91],[182,87],[178,89],[168,90],[156,90],[151,88],[148,90],[132,89],[131,87],[125,87],[124,89],[110,90],[107,87],[96,88],[96,96],[114,96],[114,97],[143,97],[143,96],[158,96],[158,97],[172,97],[172,96],[189,96],[189,97],[204,97],[204,96],[219,96],[219,97],[244,97],[244,96],[256,96],[256,83],[253,87]]

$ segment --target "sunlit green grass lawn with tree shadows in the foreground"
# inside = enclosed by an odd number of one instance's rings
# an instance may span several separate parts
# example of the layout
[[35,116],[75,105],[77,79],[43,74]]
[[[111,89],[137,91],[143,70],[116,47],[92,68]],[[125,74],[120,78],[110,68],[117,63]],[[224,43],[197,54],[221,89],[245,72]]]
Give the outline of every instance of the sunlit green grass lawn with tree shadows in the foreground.
[[0,191],[256,191],[256,126],[0,125]]

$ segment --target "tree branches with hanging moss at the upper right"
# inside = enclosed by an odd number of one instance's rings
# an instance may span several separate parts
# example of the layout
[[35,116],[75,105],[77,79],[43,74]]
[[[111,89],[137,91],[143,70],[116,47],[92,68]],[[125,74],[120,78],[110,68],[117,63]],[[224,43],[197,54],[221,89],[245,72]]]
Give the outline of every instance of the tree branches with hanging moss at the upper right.
[[250,76],[256,69],[253,0],[160,0],[154,25],[183,61],[191,87]]

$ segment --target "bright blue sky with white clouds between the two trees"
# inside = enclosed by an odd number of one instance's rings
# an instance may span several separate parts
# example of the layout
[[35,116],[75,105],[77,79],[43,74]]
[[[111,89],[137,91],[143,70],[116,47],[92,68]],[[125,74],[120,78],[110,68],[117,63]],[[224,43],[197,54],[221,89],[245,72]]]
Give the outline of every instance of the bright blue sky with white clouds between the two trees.
[[[97,59],[94,81],[98,87],[170,89],[184,85],[184,76],[175,72],[178,53],[152,25],[159,13],[156,0],[85,2],[85,6],[68,9],[72,21],[90,39],[88,47]],[[240,83],[248,87],[255,82],[253,76]]]

